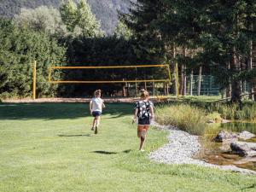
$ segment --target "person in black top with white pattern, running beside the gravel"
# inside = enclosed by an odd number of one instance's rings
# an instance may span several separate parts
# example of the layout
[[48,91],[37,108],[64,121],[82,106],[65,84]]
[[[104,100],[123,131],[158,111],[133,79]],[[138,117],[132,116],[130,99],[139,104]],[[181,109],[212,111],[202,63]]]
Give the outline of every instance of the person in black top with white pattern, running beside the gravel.
[[148,91],[141,90],[141,99],[135,104],[134,118],[132,121],[134,123],[137,120],[137,137],[141,139],[140,151],[144,151],[143,146],[146,141],[150,121],[154,119],[154,105],[148,99]]

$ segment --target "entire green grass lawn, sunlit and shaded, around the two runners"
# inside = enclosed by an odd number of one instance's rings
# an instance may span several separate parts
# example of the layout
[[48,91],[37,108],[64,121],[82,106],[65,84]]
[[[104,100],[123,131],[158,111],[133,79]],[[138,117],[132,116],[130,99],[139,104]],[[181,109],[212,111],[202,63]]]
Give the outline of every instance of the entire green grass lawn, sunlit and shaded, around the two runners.
[[94,135],[87,104],[0,104],[0,191],[256,190],[255,176],[150,162],[167,132],[150,129],[137,151],[132,108],[108,104]]

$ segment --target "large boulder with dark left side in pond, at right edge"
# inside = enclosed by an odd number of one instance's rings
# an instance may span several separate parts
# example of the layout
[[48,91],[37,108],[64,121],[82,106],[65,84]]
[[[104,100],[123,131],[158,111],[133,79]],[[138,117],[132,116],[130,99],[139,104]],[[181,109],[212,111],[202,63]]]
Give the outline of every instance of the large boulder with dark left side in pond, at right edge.
[[256,156],[256,143],[234,142],[230,143],[230,148],[241,156]]

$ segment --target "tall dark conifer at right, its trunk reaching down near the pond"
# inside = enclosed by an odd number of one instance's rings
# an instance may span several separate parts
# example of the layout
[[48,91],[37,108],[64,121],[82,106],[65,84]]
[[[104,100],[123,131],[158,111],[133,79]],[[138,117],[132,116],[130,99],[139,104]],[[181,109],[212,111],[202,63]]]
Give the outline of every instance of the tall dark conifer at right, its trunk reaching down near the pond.
[[[212,73],[218,77],[222,76],[220,84],[227,85],[231,80],[231,100],[239,102],[241,85],[235,77],[240,73],[239,58],[248,56],[249,40],[255,38],[255,32],[247,27],[247,22],[255,20],[255,1],[162,2],[172,9],[167,9],[160,18],[160,30],[176,36],[177,42],[190,41],[201,47],[195,59],[212,67]],[[229,62],[230,70],[226,68]]]

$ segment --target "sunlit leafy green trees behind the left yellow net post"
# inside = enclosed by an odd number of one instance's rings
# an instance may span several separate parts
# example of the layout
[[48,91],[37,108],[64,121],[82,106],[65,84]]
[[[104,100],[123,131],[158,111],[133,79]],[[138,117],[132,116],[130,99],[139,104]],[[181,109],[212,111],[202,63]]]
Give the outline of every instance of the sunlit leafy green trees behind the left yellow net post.
[[58,86],[47,83],[47,67],[64,61],[65,49],[45,33],[19,28],[10,20],[0,20],[0,37],[1,95],[31,96],[32,62],[37,60],[38,96],[54,96]]

